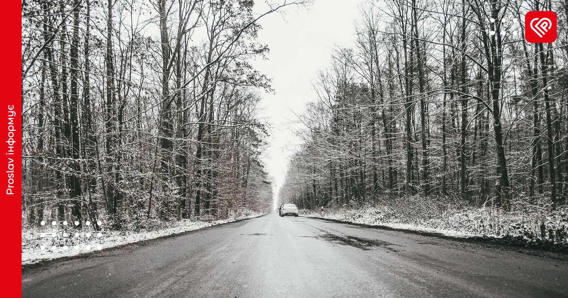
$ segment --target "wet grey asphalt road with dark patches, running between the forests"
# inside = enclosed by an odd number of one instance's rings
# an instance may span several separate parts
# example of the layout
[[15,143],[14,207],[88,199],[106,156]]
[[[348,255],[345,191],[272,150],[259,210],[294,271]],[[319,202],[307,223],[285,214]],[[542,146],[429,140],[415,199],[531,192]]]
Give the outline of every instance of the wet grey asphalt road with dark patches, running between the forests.
[[24,267],[23,297],[568,297],[568,261],[265,215]]

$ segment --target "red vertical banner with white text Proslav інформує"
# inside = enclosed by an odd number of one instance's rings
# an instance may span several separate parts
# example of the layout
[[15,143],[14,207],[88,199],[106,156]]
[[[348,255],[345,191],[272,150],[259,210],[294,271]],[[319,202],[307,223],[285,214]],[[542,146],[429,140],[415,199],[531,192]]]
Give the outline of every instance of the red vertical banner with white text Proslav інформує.
[[0,185],[4,241],[2,296],[22,296],[22,7],[2,3],[2,100],[0,100]]

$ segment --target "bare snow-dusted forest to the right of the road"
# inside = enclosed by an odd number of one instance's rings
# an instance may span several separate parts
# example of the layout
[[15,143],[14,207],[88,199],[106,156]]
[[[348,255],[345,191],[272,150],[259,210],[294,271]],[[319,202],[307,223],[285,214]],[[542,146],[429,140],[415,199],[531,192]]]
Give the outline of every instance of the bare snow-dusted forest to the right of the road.
[[[532,10],[556,11],[554,43],[525,40]],[[568,2],[368,1],[355,26],[313,82],[282,202],[564,208]]]

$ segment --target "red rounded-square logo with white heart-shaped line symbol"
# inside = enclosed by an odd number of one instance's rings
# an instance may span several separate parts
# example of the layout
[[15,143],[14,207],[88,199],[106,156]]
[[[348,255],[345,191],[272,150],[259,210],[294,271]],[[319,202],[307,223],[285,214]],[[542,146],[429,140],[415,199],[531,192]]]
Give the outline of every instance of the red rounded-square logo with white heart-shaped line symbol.
[[529,43],[553,43],[556,40],[556,34],[556,12],[527,12],[525,15],[525,39]]

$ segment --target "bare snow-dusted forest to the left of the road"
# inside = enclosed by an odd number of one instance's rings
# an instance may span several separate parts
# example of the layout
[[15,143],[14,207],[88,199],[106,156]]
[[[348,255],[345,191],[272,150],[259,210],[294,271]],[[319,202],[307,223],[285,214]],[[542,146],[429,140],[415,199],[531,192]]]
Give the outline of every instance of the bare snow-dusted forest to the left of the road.
[[258,20],[301,5],[23,1],[22,224],[265,212],[258,102],[271,82],[250,60],[268,52]]

